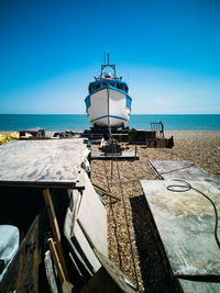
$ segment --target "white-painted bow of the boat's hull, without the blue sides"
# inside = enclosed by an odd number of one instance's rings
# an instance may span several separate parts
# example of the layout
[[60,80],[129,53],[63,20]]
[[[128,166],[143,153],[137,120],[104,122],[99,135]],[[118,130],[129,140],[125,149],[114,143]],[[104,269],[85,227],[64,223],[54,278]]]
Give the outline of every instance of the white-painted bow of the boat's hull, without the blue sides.
[[[88,108],[89,121],[92,126],[95,123],[97,126],[108,126],[108,117],[103,117],[97,121],[97,117],[108,115],[108,93],[107,89],[95,92],[90,95],[91,105]],[[130,119],[130,108],[127,106],[127,95],[123,92],[114,89],[109,89],[109,114],[119,116],[124,120],[117,117],[110,117],[111,126],[121,126],[122,123],[127,126]],[[127,120],[127,121],[125,121]]]

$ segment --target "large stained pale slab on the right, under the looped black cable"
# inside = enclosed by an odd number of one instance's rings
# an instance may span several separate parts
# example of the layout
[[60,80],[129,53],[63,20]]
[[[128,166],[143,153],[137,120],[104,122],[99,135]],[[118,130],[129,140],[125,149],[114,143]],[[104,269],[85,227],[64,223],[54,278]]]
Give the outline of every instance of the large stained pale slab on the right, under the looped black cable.
[[[216,203],[220,213],[219,189],[205,181],[188,181]],[[170,192],[170,180],[141,181],[166,255],[176,275],[220,275],[211,203],[195,191]],[[220,228],[218,228],[220,235]]]

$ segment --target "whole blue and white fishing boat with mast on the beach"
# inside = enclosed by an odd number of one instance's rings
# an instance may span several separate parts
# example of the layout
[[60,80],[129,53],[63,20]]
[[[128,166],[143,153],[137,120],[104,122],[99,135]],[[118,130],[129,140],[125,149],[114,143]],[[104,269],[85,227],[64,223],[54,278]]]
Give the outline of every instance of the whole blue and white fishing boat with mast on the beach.
[[[113,72],[107,71],[107,68]],[[85,99],[86,111],[92,127],[125,127],[131,113],[132,99],[129,87],[118,78],[116,65],[101,65],[99,77],[89,83],[89,94]]]

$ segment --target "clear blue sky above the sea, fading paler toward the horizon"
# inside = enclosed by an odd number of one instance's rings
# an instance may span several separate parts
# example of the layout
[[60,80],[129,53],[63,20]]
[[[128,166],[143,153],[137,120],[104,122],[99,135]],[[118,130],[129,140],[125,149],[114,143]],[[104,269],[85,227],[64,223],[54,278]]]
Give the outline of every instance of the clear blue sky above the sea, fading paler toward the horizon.
[[103,52],[132,113],[220,114],[220,1],[0,0],[0,113],[85,113]]

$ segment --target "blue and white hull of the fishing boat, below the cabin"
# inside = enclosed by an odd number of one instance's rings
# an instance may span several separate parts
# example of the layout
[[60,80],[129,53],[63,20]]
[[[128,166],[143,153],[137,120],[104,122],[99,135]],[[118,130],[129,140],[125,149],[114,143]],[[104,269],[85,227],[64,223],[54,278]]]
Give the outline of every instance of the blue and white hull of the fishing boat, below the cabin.
[[102,88],[86,98],[89,122],[94,127],[127,126],[131,113],[131,98],[117,88]]

